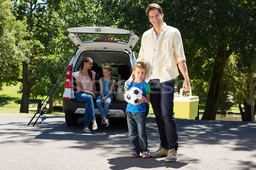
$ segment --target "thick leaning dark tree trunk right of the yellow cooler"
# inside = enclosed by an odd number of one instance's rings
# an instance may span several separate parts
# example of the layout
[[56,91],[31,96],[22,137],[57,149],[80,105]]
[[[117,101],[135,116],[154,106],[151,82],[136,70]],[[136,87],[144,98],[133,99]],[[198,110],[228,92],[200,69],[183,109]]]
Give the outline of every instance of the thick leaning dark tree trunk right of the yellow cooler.
[[202,120],[215,120],[221,96],[221,84],[224,75],[224,67],[230,54],[231,51],[227,51],[227,45],[222,43],[222,45],[218,48],[211,84],[207,94],[207,103]]

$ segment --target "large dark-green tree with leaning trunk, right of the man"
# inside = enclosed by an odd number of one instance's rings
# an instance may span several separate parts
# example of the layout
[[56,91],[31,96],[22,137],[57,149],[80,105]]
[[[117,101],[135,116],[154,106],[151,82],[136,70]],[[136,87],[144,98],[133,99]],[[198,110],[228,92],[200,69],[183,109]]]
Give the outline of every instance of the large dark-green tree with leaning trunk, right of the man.
[[[186,5],[185,5],[186,4]],[[190,77],[209,82],[202,119],[215,120],[227,59],[242,48],[253,1],[188,1],[163,3],[165,21],[181,31]],[[166,12],[165,12],[166,13]],[[242,37],[241,37],[242,36]]]

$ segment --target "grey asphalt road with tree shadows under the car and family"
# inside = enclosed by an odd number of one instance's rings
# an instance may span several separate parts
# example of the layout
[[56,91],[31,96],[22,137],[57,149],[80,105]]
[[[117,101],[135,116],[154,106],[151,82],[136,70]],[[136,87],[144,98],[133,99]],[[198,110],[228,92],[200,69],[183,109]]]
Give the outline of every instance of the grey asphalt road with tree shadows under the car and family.
[[[48,116],[32,127],[31,118],[0,114],[0,170],[256,170],[256,122],[177,119],[178,159],[168,163],[128,157],[124,118],[111,118],[108,128],[98,123],[92,134],[83,133],[83,119],[68,127],[64,116]],[[154,119],[147,119],[147,135],[154,152],[160,144]]]

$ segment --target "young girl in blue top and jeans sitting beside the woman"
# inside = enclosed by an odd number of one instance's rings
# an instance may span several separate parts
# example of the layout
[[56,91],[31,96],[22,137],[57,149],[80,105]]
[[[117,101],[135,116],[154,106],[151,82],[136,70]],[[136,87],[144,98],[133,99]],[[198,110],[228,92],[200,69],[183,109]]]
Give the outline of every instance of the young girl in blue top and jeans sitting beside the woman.
[[[112,91],[116,81],[112,77],[112,69],[110,66],[105,65],[102,68],[102,71],[104,77],[99,79],[100,95],[96,100],[96,105],[99,109],[100,116],[102,117],[102,125],[106,125],[106,127],[108,127],[108,109],[111,101],[113,100]],[[102,107],[102,103],[104,103],[104,109]]]

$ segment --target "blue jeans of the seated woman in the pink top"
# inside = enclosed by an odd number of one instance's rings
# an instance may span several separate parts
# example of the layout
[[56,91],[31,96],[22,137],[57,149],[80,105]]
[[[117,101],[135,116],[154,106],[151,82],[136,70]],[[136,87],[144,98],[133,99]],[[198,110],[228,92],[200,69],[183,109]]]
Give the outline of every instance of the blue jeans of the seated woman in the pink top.
[[96,120],[95,119],[95,114],[94,114],[94,106],[93,106],[93,96],[90,94],[85,94],[81,91],[76,93],[76,99],[79,102],[84,103],[84,127],[89,127],[90,119],[91,120]]

